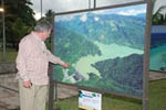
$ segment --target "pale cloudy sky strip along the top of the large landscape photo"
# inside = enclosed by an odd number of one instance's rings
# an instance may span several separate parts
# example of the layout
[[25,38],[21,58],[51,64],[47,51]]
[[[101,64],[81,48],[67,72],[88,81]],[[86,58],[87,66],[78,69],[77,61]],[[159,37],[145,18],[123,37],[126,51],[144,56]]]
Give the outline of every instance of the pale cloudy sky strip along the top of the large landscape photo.
[[[81,15],[80,20],[85,22],[87,18],[87,12],[84,13],[72,13],[72,14],[64,14],[64,15],[58,15],[56,21],[70,21],[74,19],[75,15]],[[123,7],[123,8],[115,8],[115,9],[108,9],[108,10],[96,10],[96,11],[90,11],[89,13],[94,14],[121,14],[121,15],[137,15],[146,13],[146,4],[136,4],[136,6],[129,6],[129,7]],[[98,18],[94,18],[95,21],[98,21]]]

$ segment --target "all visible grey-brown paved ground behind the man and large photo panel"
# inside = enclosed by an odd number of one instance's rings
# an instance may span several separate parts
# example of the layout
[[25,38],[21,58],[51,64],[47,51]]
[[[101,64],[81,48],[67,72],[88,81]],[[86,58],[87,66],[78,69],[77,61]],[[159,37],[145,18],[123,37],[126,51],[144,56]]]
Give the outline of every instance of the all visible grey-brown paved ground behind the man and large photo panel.
[[[0,75],[0,110],[19,110],[19,90],[15,74]],[[166,74],[151,72],[149,80],[166,78]],[[77,88],[58,85],[59,99],[77,95]]]

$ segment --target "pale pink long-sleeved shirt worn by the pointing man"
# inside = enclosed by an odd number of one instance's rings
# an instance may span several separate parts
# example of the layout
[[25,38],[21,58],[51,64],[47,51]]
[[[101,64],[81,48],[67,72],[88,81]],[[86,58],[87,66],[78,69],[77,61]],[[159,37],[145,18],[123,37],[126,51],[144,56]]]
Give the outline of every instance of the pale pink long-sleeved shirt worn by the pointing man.
[[34,85],[48,85],[49,62],[63,62],[46,50],[44,42],[32,32],[24,36],[19,44],[17,57],[17,79],[30,80]]

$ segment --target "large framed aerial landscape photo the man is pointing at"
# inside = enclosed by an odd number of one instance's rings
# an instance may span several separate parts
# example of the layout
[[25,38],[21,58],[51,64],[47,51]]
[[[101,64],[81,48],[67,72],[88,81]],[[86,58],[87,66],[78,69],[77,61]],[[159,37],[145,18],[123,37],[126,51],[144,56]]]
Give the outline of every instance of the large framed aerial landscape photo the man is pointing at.
[[145,25],[146,4],[56,14],[53,80],[142,97]]

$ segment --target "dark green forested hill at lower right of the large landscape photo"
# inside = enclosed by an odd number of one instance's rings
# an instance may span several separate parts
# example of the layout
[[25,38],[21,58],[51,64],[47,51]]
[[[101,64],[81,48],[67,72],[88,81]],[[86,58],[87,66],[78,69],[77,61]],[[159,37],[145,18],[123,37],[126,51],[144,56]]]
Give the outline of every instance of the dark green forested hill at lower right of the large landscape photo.
[[[123,58],[116,57],[114,59],[106,59],[97,62],[94,67],[102,73],[101,80],[107,80],[102,86],[112,87],[112,81],[121,89],[117,92],[125,91],[133,94],[137,91],[136,96],[142,96],[143,89],[143,55],[133,54]],[[103,80],[103,82],[105,82]],[[110,82],[108,82],[110,80]],[[115,85],[114,85],[115,86]],[[125,89],[125,90],[124,90]]]

